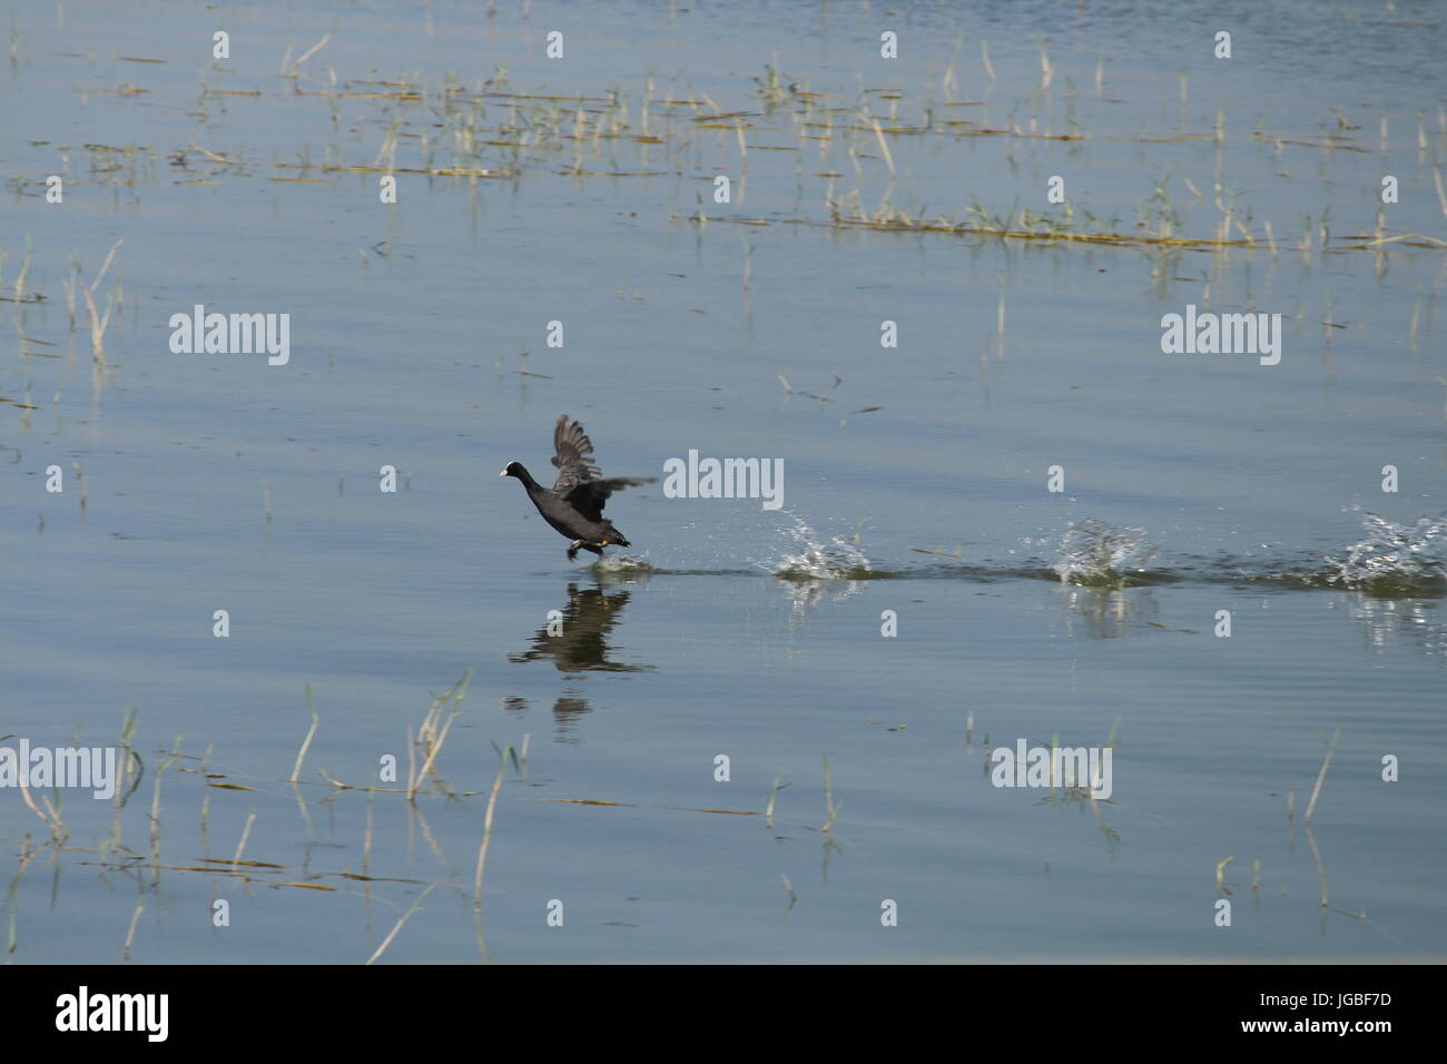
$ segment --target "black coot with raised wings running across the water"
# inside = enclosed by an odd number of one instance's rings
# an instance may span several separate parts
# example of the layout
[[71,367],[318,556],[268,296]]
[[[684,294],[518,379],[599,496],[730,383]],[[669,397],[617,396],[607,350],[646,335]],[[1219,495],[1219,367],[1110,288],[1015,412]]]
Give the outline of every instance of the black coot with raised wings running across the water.
[[569,559],[579,550],[590,550],[599,557],[603,547],[631,547],[628,539],[603,517],[608,497],[621,488],[635,484],[650,484],[653,476],[616,476],[603,479],[598,466],[592,465],[593,442],[587,439],[583,426],[563,414],[553,431],[553,465],[557,466],[557,482],[544,488],[519,463],[509,462],[501,476],[515,476],[522,481],[528,498],[537,507],[543,520],[561,536],[572,540]]

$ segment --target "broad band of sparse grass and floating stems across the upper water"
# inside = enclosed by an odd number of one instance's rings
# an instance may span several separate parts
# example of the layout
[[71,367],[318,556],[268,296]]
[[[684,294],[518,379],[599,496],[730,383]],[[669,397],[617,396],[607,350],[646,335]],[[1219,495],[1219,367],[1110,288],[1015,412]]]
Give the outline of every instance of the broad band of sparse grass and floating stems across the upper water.
[[[1244,191],[1230,187],[1227,149],[1255,152],[1281,177],[1289,177],[1281,169],[1288,165],[1288,149],[1307,149],[1324,158],[1336,152],[1369,153],[1363,123],[1350,122],[1341,107],[1333,109],[1312,135],[1272,132],[1265,126],[1236,133],[1221,113],[1207,127],[1192,127],[1184,106],[1178,129],[1126,130],[1110,124],[1108,110],[1097,111],[1098,122],[1082,119],[1077,87],[1052,88],[1056,64],[1040,42],[1036,42],[1040,81],[1014,98],[994,98],[998,78],[987,42],[981,42],[981,61],[988,74],[981,98],[958,98],[961,41],[948,68],[932,75],[926,90],[915,96],[899,87],[868,87],[862,80],[852,93],[813,91],[768,64],[763,74],[752,75],[748,98],[721,104],[682,74],[667,83],[645,74],[640,78],[641,85],[631,91],[609,85],[567,94],[514,87],[505,65],[472,83],[463,83],[453,72],[440,83],[430,83],[417,74],[344,78],[330,64],[321,74],[304,69],[304,61],[326,55],[328,39],[330,35],[318,41],[301,61],[285,56],[278,74],[282,84],[276,87],[259,83],[250,88],[221,88],[211,84],[214,72],[203,74],[197,114],[204,122],[218,110],[263,106],[268,100],[313,98],[320,104],[318,120],[324,119],[331,130],[350,127],[360,139],[373,142],[375,152],[369,149],[363,158],[349,158],[352,152],[336,138],[326,140],[320,159],[310,149],[294,158],[268,159],[214,143],[85,143],[80,151],[85,153],[88,181],[137,188],[165,181],[166,168],[172,182],[194,185],[245,180],[317,184],[344,174],[467,182],[531,181],[544,174],[574,181],[669,177],[703,182],[724,174],[737,184],[737,197],[731,200],[735,210],[709,213],[703,207],[706,195],[699,194],[696,210],[674,207],[673,217],[700,224],[815,224],[1195,250],[1382,253],[1402,248],[1447,248],[1447,242],[1433,236],[1391,232],[1380,210],[1363,216],[1356,232],[1346,235],[1330,232],[1325,211],[1320,220],[1307,214],[1294,223],[1273,226],[1270,219],[1256,220],[1255,211],[1243,203]],[[1106,98],[1101,74],[1097,65],[1097,100]],[[139,97],[146,90],[123,83],[113,91]],[[1058,107],[1062,98],[1064,107]],[[1441,109],[1437,119],[1447,130],[1447,114]],[[1123,224],[1119,211],[1092,210],[1074,193],[1058,197],[1059,206],[1049,210],[1022,207],[1019,197],[1009,207],[991,206],[983,201],[983,195],[988,197],[981,193],[980,182],[969,180],[961,181],[952,210],[897,200],[901,187],[913,187],[915,159],[922,153],[951,165],[949,153],[956,152],[955,168],[961,175],[978,172],[971,145],[983,139],[1000,142],[1001,161],[1011,172],[1023,164],[1046,168],[1045,172],[1065,169],[1066,162],[1077,164],[1081,153],[1095,145],[1200,145],[1210,152],[1210,161],[1201,162],[1210,166],[1211,178],[1198,185],[1181,162],[1172,164],[1149,178],[1149,188],[1137,194],[1133,224]],[[1418,142],[1425,146],[1422,127]],[[54,148],[62,161],[74,151]],[[1386,148],[1385,116],[1380,148]],[[812,200],[818,208],[763,216],[738,210],[747,200],[750,166],[758,153],[792,162],[796,203]],[[1420,162],[1430,169],[1447,211],[1440,166],[1425,153]],[[1072,172],[1078,172],[1078,166]],[[1189,193],[1184,203],[1171,191],[1174,174]],[[768,180],[777,182],[783,177],[784,171],[774,168]],[[84,184],[81,178],[75,181]],[[17,194],[45,190],[45,181],[36,177],[13,177],[9,185]],[[867,191],[871,185],[873,193]],[[1197,204],[1207,204],[1213,211],[1205,227],[1191,213]]]

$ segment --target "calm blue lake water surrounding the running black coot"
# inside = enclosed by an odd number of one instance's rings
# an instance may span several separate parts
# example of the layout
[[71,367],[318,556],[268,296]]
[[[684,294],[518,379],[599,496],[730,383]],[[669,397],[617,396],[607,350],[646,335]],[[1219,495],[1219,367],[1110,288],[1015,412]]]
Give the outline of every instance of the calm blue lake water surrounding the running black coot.
[[[362,963],[428,887],[383,961],[1447,953],[1434,9],[6,22],[0,747],[116,746],[130,706],[145,766],[119,815],[52,795],[64,845],[0,789],[16,963]],[[1055,175],[1129,240],[833,221],[1061,221]],[[1137,239],[1227,210],[1255,246]],[[117,240],[97,369],[65,284]],[[289,314],[289,362],[172,353],[198,303]],[[1188,304],[1281,314],[1279,365],[1163,355]],[[569,563],[496,476],[546,479],[563,411],[606,475],[781,459],[784,505],[632,488],[625,560]],[[1110,801],[991,785],[1056,735],[1114,737]]]

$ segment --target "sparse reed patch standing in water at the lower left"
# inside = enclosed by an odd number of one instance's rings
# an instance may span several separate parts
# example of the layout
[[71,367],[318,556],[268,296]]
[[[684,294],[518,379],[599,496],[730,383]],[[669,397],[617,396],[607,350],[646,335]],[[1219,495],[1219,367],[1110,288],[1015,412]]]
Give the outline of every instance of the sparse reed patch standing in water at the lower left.
[[[360,902],[368,935],[370,941],[376,942],[365,961],[360,955],[362,947],[357,947],[357,960],[365,964],[378,961],[407,921],[421,909],[423,902],[441,887],[446,895],[454,899],[453,908],[456,911],[470,912],[478,953],[482,960],[491,960],[483,934],[488,909],[485,905],[485,870],[495,835],[498,798],[504,785],[511,783],[511,789],[519,789],[515,801],[521,802],[534,801],[589,808],[634,808],[635,803],[595,798],[530,796],[531,788],[547,785],[532,782],[528,776],[531,735],[527,734],[522,735],[517,747],[492,744],[498,757],[498,769],[491,786],[467,790],[450,785],[440,773],[438,759],[453,724],[462,715],[462,702],[467,695],[470,680],[472,673],[469,672],[447,692],[433,698],[428,711],[415,728],[405,728],[405,777],[399,774],[402,766],[396,763],[398,759],[383,754],[378,773],[382,782],[376,785],[344,783],[324,767],[302,773],[302,764],[323,719],[313,705],[310,683],[305,685],[305,701],[311,724],[297,750],[289,779],[284,779],[282,774],[255,776],[221,766],[216,761],[214,748],[210,746],[200,754],[188,753],[182,748],[184,737],[181,735],[177,735],[164,748],[143,753],[136,738],[139,711],[127,704],[120,738],[116,743],[120,756],[117,759],[119,777],[114,780],[114,793],[110,801],[111,819],[94,844],[72,835],[65,819],[59,788],[54,790],[54,796],[38,793],[26,788],[25,777],[20,777],[19,790],[23,803],[39,818],[43,834],[35,837],[30,832],[23,832],[9,840],[0,835],[0,840],[16,843],[19,847],[16,871],[9,882],[3,902],[0,902],[0,912],[3,912],[9,926],[7,954],[14,955],[23,941],[19,934],[20,913],[25,908],[20,889],[26,876],[36,869],[49,869],[55,883],[59,884],[62,869],[75,866],[94,870],[107,892],[114,892],[126,883],[135,889],[135,909],[124,941],[120,944],[120,957],[124,961],[133,958],[137,941],[142,938],[140,916],[148,909],[168,912],[175,908],[178,898],[184,898],[185,905],[197,903],[192,898],[194,889],[182,883],[194,876],[205,877],[210,883],[211,909],[217,913],[226,913],[214,921],[217,928],[230,926],[232,906],[239,905],[243,899],[252,899],[258,887],[321,892]],[[143,790],[143,783],[148,779],[150,780],[149,796]],[[168,783],[165,802],[162,802],[164,782]],[[765,809],[667,805],[654,808],[726,818],[760,816],[773,841],[787,843],[790,838],[778,834],[776,819],[778,793],[787,786],[781,777],[774,779]],[[177,788],[184,795],[182,799],[175,798]],[[842,802],[836,802],[833,796],[833,777],[828,756],[823,759],[822,795],[826,812],[825,822],[822,825],[802,824],[800,827],[823,835],[822,853],[828,870],[829,857],[841,851],[835,840],[835,827],[844,808]],[[365,802],[365,808],[359,811],[353,805],[344,809],[340,805],[343,802]],[[213,808],[214,803],[216,808]],[[289,806],[295,806],[294,811],[288,812]],[[88,812],[88,806],[84,806],[82,812]],[[169,815],[164,816],[164,812]],[[279,818],[292,814],[300,815],[305,828],[308,840],[305,861],[298,866],[247,856],[253,850],[249,844],[258,822],[265,819],[275,828]],[[195,816],[195,828],[178,827],[177,816],[181,815]],[[245,819],[242,819],[243,815]],[[402,874],[414,869],[411,844],[405,850],[373,845],[373,835],[379,829],[379,816],[383,818],[381,831],[388,838],[395,838],[392,832],[396,829],[396,818],[405,818],[407,838],[412,840],[414,835],[420,835],[436,858],[433,879]],[[470,877],[466,876],[466,867],[454,863],[449,856],[440,841],[446,835],[434,831],[431,816],[447,818],[453,834],[456,834],[459,816],[475,818],[479,845]],[[318,831],[318,818],[326,818],[331,829]],[[334,837],[339,818],[346,818],[349,824],[362,821],[362,837],[355,861],[347,861],[341,867],[326,867],[326,861],[318,861],[314,866],[313,845],[324,834]],[[240,824],[234,848],[232,848],[229,838],[214,838],[217,834],[214,822],[218,819]],[[96,822],[88,816],[84,821],[85,827],[77,828],[77,831],[84,831],[88,835],[96,829]],[[142,827],[140,837],[133,834],[137,825]],[[275,844],[275,832],[269,832],[268,838]],[[195,847],[204,856],[194,856]],[[323,847],[341,848],[334,841],[326,843]],[[271,857],[269,853],[265,856]],[[401,867],[396,867],[398,864]],[[793,893],[792,887],[790,893]],[[796,902],[797,896],[793,898],[790,909]],[[399,913],[385,935],[381,932],[388,924],[386,921],[373,924],[373,905]],[[379,935],[381,941],[378,941]]]

